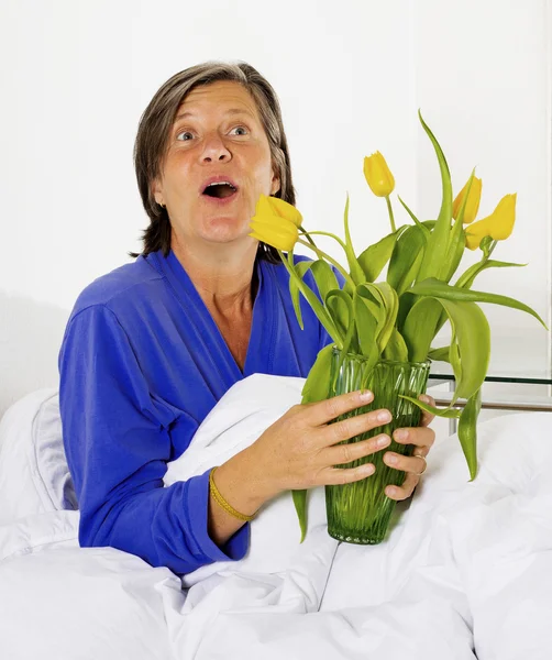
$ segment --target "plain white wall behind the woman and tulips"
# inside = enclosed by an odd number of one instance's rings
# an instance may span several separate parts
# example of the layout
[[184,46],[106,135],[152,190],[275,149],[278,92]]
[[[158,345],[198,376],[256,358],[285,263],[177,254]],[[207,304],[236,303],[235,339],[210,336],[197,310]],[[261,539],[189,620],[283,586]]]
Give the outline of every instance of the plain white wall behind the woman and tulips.
[[[362,174],[375,150],[412,208],[435,213],[439,178],[416,117],[421,107],[456,188],[478,165],[482,212],[518,191],[514,237],[496,254],[530,266],[489,273],[481,287],[550,316],[549,4],[3,0],[0,415],[23,394],[56,385],[78,293],[139,249],[146,224],[132,168],[139,118],[169,76],[206,59],[243,59],[271,80],[306,224],[341,232],[349,190],[358,244],[388,230],[385,205]],[[550,339],[529,317],[489,315],[495,333],[531,334],[532,367],[550,364]],[[518,364],[529,364],[526,348]]]

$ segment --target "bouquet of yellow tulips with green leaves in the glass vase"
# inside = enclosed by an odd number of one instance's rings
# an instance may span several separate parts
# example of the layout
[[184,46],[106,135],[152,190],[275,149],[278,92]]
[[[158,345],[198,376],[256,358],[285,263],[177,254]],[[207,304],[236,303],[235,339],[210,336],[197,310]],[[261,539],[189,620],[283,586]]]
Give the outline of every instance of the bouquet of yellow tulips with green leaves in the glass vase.
[[[516,195],[506,195],[490,216],[474,222],[482,180],[475,176],[475,170],[472,172],[453,199],[444,154],[421,113],[419,119],[434,147],[441,173],[442,201],[437,220],[420,221],[399,197],[412,222],[396,227],[390,199],[395,180],[385,158],[376,152],[364,160],[364,175],[372,191],[387,202],[391,231],[380,241],[361,252],[354,249],[349,230],[349,197],[343,239],[328,232],[307,231],[299,211],[273,197],[258,200],[251,235],[278,250],[290,275],[290,294],[301,328],[300,295],[312,307],[342,355],[347,352],[362,354],[372,365],[380,360],[450,362],[455,376],[450,406],[435,408],[418,399],[411,402],[434,415],[459,418],[459,438],[473,480],[477,473],[476,422],[481,387],[490,356],[489,324],[477,304],[516,308],[547,326],[527,305],[472,288],[477,275],[486,268],[525,265],[492,258],[497,242],[511,234]],[[314,240],[320,234],[331,237],[341,245],[347,267],[320,250]],[[316,258],[295,263],[297,244],[312,250]],[[456,275],[466,249],[481,250],[481,258]],[[378,280],[386,266],[385,278]],[[307,271],[311,271],[318,292],[305,283]],[[342,286],[336,272],[342,276]],[[451,327],[450,345],[433,348],[435,336],[446,322]],[[305,384],[303,403],[327,398],[332,349],[330,344],[320,351]],[[460,398],[466,400],[463,410],[455,408]]]

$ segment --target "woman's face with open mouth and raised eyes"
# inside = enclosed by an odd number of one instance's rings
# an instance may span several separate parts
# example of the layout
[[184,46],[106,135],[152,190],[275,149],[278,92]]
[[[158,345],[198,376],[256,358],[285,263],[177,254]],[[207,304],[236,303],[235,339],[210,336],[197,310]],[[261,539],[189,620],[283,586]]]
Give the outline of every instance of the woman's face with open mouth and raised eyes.
[[[213,178],[230,186],[209,187]],[[239,82],[197,87],[181,103],[169,135],[155,199],[167,207],[173,243],[228,243],[246,238],[261,194],[279,179],[258,110]]]

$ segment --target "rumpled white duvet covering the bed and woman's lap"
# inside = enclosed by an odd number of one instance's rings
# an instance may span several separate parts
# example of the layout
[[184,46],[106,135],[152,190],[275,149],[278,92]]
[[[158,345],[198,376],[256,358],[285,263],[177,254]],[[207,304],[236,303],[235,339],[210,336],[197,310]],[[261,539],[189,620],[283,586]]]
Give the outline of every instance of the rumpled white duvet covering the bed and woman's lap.
[[[300,399],[302,383],[257,374],[236,384],[169,465],[166,483],[253,442]],[[19,417],[35,415],[33,406],[36,397]],[[7,416],[13,427],[15,416]],[[2,442],[0,429],[7,503],[11,454]],[[183,582],[125,552],[79,548],[76,510],[31,513],[20,503],[25,515],[0,516],[0,659],[548,660],[552,416],[481,425],[479,457],[468,483],[457,439],[440,439],[379,546],[331,539],[322,490],[311,493],[299,544],[284,495],[252,522],[244,560],[203,566]]]

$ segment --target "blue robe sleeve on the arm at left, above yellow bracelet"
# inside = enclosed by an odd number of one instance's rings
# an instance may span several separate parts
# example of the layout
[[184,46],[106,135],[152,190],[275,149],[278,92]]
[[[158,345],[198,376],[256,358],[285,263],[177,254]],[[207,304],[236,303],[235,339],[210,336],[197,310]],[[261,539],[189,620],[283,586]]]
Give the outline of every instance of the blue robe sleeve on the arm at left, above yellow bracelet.
[[[179,574],[245,556],[249,524],[223,548],[209,537],[208,472],[164,487],[176,413],[150,392],[129,336],[108,307],[95,305],[70,319],[59,375],[82,547],[110,546]],[[192,435],[192,416],[189,424]]]

